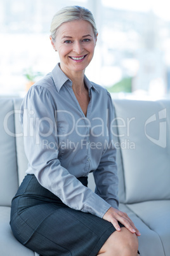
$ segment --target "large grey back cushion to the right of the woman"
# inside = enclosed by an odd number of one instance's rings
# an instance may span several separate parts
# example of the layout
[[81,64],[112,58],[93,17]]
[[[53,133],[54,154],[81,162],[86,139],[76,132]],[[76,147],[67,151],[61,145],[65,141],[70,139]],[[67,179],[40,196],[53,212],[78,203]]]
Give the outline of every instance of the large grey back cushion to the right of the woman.
[[126,203],[170,199],[170,101],[114,100],[114,106]]

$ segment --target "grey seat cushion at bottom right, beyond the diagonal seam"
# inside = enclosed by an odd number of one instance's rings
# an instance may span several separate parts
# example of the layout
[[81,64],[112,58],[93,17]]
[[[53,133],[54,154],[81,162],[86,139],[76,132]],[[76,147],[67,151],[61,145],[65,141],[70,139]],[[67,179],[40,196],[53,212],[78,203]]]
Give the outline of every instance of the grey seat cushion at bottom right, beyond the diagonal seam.
[[[170,200],[148,201],[137,204],[128,204],[128,208],[136,213],[138,217],[152,231],[158,234],[165,255],[170,252]],[[150,255],[150,254],[148,254]],[[164,254],[157,254],[164,255]]]

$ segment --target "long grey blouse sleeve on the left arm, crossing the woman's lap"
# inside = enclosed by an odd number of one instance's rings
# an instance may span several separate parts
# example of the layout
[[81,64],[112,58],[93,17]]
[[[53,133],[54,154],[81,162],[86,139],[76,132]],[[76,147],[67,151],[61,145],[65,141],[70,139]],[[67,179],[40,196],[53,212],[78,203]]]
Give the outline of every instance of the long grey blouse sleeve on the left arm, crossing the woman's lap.
[[[27,173],[34,173],[43,187],[60,197],[70,208],[102,218],[110,204],[82,185],[61,165],[62,150],[58,132],[62,132],[62,124],[58,120],[57,111],[51,86],[49,89],[41,85],[32,86],[23,100],[20,122],[23,125],[25,153],[29,160]],[[101,160],[101,166],[104,160],[105,157]]]

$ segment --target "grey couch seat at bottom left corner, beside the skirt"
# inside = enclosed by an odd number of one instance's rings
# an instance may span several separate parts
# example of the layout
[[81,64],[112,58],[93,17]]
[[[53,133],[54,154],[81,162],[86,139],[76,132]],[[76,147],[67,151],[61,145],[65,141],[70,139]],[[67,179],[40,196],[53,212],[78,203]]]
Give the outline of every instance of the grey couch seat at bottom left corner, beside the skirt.
[[35,256],[35,253],[19,243],[10,227],[10,207],[0,206],[0,255]]

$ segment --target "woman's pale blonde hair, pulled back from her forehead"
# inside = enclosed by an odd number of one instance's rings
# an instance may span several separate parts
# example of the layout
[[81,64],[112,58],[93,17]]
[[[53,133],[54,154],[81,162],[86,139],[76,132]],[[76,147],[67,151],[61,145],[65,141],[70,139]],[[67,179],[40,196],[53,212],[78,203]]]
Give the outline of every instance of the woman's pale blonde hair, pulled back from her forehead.
[[52,19],[50,32],[53,41],[55,41],[58,27],[65,22],[71,22],[73,20],[88,21],[93,27],[95,37],[97,36],[98,31],[91,11],[81,6],[67,6],[58,11]]

